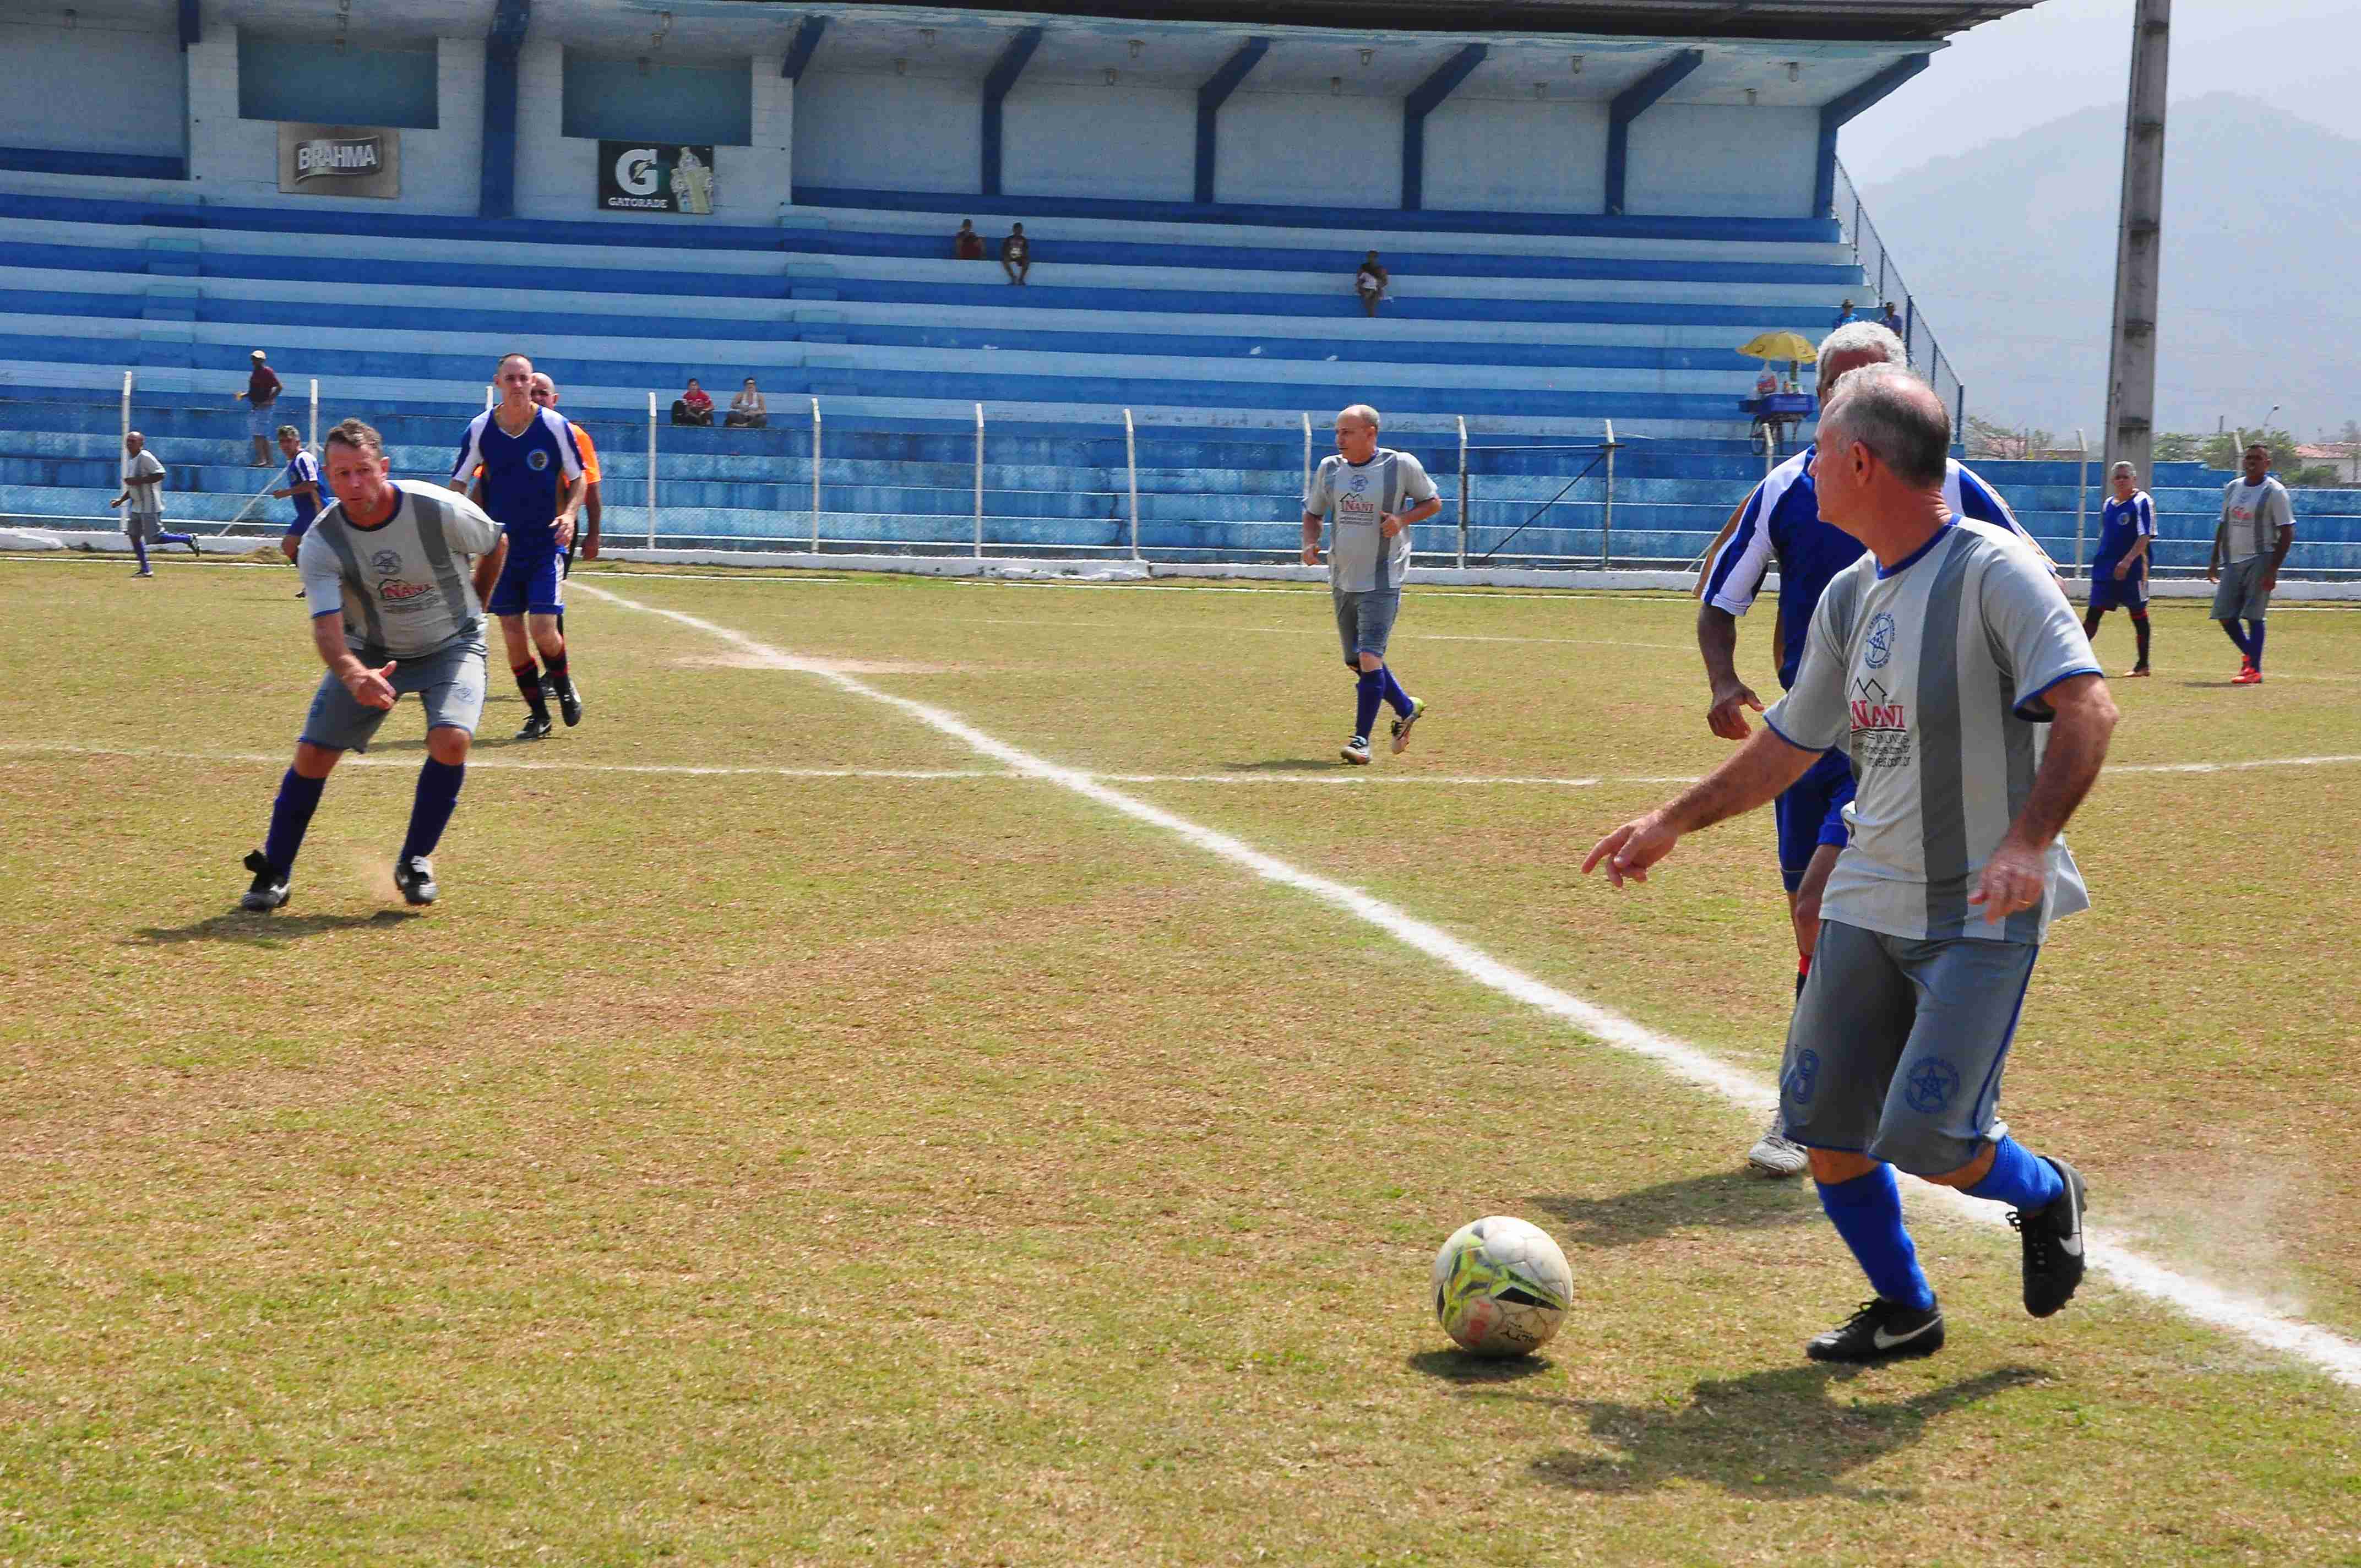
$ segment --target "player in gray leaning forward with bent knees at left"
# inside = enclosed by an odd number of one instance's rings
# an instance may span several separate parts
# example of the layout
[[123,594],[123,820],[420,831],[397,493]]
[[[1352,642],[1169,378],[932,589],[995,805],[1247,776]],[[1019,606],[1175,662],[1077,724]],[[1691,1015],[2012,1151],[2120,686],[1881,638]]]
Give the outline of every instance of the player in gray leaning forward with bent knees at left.
[[[335,501],[312,520],[295,567],[312,600],[312,645],[328,673],[312,697],[295,763],[279,779],[272,827],[246,857],[248,909],[288,902],[305,829],[338,760],[378,732],[394,699],[418,692],[427,760],[418,770],[411,829],[394,886],[434,902],[434,845],[467,777],[467,746],[484,716],[484,593],[501,574],[501,524],[465,496],[387,477],[385,442],[361,420],[328,432]],[[475,557],[470,569],[470,557]]]

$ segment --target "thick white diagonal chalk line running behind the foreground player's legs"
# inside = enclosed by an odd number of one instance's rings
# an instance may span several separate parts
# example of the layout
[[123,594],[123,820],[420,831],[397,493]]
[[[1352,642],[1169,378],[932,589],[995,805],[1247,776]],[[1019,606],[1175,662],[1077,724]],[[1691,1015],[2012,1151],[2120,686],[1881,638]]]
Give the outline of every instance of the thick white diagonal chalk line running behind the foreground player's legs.
[[[1532,975],[1525,975],[1502,963],[1499,959],[1461,942],[1447,930],[1428,926],[1426,921],[1405,914],[1402,909],[1395,909],[1393,904],[1386,904],[1384,900],[1376,900],[1362,893],[1360,888],[1350,888],[1346,883],[1329,881],[1310,871],[1301,871],[1287,864],[1284,860],[1265,855],[1263,850],[1256,850],[1254,845],[1232,838],[1230,834],[1199,827],[1188,817],[1178,817],[1169,810],[1150,805],[1147,801],[1126,796],[1119,789],[1110,789],[1107,784],[1086,772],[1060,767],[1058,763],[1036,758],[1029,751],[1020,751],[1018,746],[994,739],[992,734],[985,734],[982,730],[968,725],[966,720],[951,713],[944,713],[942,708],[911,701],[909,697],[895,697],[892,692],[881,692],[878,687],[855,680],[852,675],[843,675],[836,671],[812,671],[810,664],[798,661],[777,647],[758,642],[739,631],[730,631],[727,626],[715,626],[713,621],[701,621],[692,614],[682,614],[678,609],[659,609],[654,605],[640,605],[637,600],[628,600],[621,593],[590,588],[588,583],[578,583],[578,588],[583,588],[595,597],[621,605],[623,609],[659,614],[671,621],[678,621],[680,626],[701,631],[708,638],[718,638],[744,654],[763,659],[765,664],[810,671],[843,692],[852,692],[855,697],[866,697],[881,706],[895,708],[918,720],[928,730],[935,730],[940,734],[947,734],[966,744],[968,749],[1006,765],[1011,772],[1025,775],[1029,779],[1041,779],[1046,784],[1058,784],[1060,789],[1067,789],[1081,796],[1084,801],[1105,805],[1107,810],[1121,812],[1133,822],[1162,829],[1173,838],[1180,838],[1183,843],[1204,850],[1206,855],[1228,860],[1230,864],[1251,871],[1263,881],[1277,883],[1282,888],[1294,888],[1296,893],[1306,893],[1334,909],[1343,909],[1346,914],[1367,921],[1369,926],[1376,926],[1379,930],[1402,942],[1405,947],[1424,952],[1426,956],[1445,963],[1447,968],[1466,975],[1469,980],[1487,989],[1495,989],[1504,997],[1513,997],[1516,1001],[1525,1001],[1528,1006],[1535,1006],[1554,1018],[1561,1018],[1582,1030],[1584,1034],[1589,1034],[1591,1039],[1598,1039],[1601,1044],[1653,1060],[1660,1067],[1665,1067],[1672,1077],[1695,1084],[1700,1089],[1709,1089],[1754,1115],[1771,1110],[1778,1100],[1771,1086],[1716,1060],[1714,1056],[1700,1051],[1698,1046],[1690,1046],[1688,1041],[1660,1034],[1620,1013],[1613,1013],[1603,1006],[1561,992],[1554,985],[1544,985],[1542,980],[1535,980]],[[1948,1188],[1922,1188],[1922,1183],[1912,1183],[1912,1193],[1919,1193],[1922,1197],[1931,1195],[1934,1202],[1945,1207],[1945,1211],[1976,1219],[1988,1226],[1997,1226],[2002,1216],[2002,1209],[1997,1204],[1976,1202]],[[2319,1325],[2276,1313],[2259,1301],[2236,1296],[2203,1280],[2191,1280],[2160,1263],[2151,1263],[2149,1259],[2123,1247],[2108,1233],[2101,1230],[2087,1233],[2087,1244],[2089,1244],[2089,1261],[2101,1273],[2111,1275],[2120,1287],[2163,1301],[2165,1306],[2172,1306],[2200,1322],[2210,1322],[2219,1329],[2241,1334],[2255,1344],[2307,1360],[2321,1372],[2335,1377],[2337,1381],[2361,1389],[2361,1344],[2344,1339],[2342,1334],[2333,1334]]]

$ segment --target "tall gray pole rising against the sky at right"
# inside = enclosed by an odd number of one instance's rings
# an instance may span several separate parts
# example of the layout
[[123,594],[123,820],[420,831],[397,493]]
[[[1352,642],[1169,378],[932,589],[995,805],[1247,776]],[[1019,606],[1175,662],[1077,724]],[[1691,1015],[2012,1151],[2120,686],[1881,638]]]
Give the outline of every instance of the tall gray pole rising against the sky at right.
[[2104,463],[2141,479],[2156,458],[2156,272],[2165,220],[2165,64],[2172,0],[2134,0],[2132,85],[2123,116],[2115,213],[2115,333],[2106,354]]

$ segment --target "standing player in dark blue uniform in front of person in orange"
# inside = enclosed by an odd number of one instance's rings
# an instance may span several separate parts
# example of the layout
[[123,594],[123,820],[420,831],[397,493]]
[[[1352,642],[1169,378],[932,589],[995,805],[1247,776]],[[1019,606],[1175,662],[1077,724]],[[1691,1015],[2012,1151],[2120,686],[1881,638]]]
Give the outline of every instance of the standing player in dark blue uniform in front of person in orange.
[[458,463],[451,465],[451,489],[465,491],[482,468],[484,510],[508,531],[508,564],[501,567],[486,609],[501,619],[508,668],[529,708],[517,739],[538,741],[550,732],[550,704],[541,694],[536,652],[567,727],[583,716],[567,671],[567,635],[557,631],[557,616],[567,609],[560,553],[574,541],[583,463],[564,418],[555,409],[534,406],[531,359],[503,354],[493,380],[501,385],[501,401],[467,420]]

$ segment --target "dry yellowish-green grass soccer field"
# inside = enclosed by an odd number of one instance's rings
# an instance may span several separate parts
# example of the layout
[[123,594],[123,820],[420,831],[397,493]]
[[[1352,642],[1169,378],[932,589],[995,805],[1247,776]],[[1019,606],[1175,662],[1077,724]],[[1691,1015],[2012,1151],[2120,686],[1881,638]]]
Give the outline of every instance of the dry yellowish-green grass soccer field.
[[[496,671],[442,902],[406,701],[248,916],[290,588],[0,562],[0,1561],[2361,1563],[2361,1386],[2033,1322],[1934,1207],[1950,1346],[1813,1367],[1868,1292],[1752,1110],[1275,881],[1766,1091],[1768,817],[1577,874],[1726,753],[1681,597],[1412,593],[1433,716],[1346,772],[1325,590],[581,571],[590,713],[512,746]],[[2361,614],[2156,661],[2004,1108],[2361,1339]],[[1424,1294],[1492,1211],[1577,1280],[1509,1367]]]

